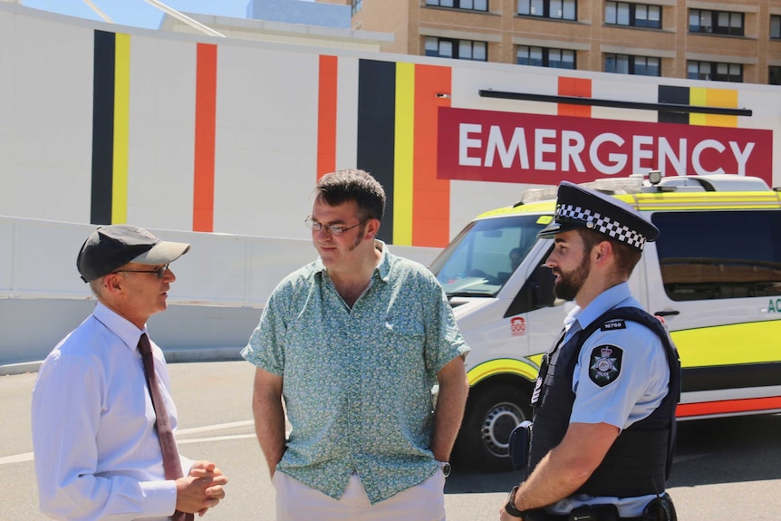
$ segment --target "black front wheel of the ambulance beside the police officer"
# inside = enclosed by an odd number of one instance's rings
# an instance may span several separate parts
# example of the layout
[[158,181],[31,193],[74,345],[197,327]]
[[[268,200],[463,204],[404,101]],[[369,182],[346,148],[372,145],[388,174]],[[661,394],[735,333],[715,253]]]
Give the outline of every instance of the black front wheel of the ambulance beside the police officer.
[[511,470],[507,445],[510,432],[531,419],[528,395],[516,385],[502,383],[470,391],[456,456],[471,468],[489,472]]

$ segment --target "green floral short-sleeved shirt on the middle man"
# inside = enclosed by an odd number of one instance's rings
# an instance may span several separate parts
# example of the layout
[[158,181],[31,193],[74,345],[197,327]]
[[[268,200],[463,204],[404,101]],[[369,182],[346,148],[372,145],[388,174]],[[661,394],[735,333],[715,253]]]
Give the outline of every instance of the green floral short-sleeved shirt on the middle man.
[[441,286],[390,255],[350,309],[318,259],[269,297],[247,361],[283,377],[293,429],[277,469],[342,497],[353,472],[371,503],[432,476],[437,372],[469,351]]

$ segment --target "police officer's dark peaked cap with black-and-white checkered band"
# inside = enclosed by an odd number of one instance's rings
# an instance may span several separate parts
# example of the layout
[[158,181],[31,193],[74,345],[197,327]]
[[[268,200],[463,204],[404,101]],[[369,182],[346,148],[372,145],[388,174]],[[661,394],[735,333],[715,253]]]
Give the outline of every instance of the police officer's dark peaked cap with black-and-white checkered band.
[[562,181],[554,222],[537,236],[552,238],[575,228],[591,229],[640,251],[646,242],[653,242],[659,236],[659,229],[651,221],[623,201]]

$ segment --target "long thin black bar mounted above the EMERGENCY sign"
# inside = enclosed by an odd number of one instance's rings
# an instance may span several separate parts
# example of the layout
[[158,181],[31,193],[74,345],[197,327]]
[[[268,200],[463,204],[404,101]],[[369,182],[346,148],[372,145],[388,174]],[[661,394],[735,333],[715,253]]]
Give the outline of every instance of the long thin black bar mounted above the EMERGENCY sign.
[[503,92],[481,89],[477,92],[481,98],[502,98],[506,100],[547,101],[567,103],[569,105],[589,105],[593,107],[612,107],[613,109],[634,109],[639,111],[668,111],[684,114],[720,114],[722,116],[750,116],[749,109],[729,109],[727,107],[704,107],[701,105],[679,105],[676,103],[642,103],[640,101],[598,100],[578,96],[552,96],[548,94],[530,94],[526,92]]

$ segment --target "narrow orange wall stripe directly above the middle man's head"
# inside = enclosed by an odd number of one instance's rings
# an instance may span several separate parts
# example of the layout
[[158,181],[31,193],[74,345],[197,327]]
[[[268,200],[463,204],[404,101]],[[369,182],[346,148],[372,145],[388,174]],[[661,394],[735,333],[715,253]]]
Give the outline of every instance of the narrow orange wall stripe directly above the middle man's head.
[[317,94],[317,178],[336,169],[336,56],[320,56]]

